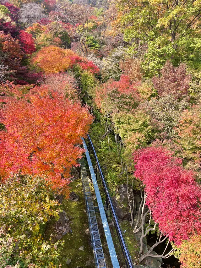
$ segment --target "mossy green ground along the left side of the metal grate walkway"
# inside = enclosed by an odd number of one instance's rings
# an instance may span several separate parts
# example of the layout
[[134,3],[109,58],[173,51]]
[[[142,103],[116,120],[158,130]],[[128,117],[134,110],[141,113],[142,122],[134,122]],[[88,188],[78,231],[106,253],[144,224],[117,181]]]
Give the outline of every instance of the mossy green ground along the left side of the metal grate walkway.
[[[85,234],[85,230],[88,228],[88,219],[86,212],[84,212],[86,208],[83,190],[82,186],[76,187],[78,184],[81,184],[81,179],[71,182],[69,187],[70,191],[74,191],[79,195],[79,201],[63,200],[63,207],[67,216],[73,218],[70,220],[72,233],[67,233],[62,238],[65,241],[61,253],[62,268],[85,267],[87,260],[94,259],[92,248],[88,243],[90,235]],[[53,236],[56,236],[53,223],[54,221],[49,222],[46,227],[46,238],[50,237],[51,233],[53,233]],[[79,250],[80,246],[84,246],[84,251]],[[67,258],[72,260],[70,265],[67,265],[65,262]]]

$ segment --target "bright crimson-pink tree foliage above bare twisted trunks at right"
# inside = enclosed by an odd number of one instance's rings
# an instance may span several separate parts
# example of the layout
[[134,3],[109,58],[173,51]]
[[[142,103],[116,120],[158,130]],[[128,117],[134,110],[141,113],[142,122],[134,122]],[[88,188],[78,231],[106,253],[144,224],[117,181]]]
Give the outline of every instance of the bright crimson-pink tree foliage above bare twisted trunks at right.
[[176,244],[195,231],[201,233],[201,189],[182,159],[164,147],[134,153],[134,176],[145,184],[147,205],[160,231]]

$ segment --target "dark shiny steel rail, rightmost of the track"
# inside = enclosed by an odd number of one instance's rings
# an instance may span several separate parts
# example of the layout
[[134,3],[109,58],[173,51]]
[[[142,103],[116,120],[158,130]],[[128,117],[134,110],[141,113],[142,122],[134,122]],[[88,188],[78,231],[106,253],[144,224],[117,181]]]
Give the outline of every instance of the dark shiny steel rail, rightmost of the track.
[[120,242],[122,252],[123,252],[123,255],[124,255],[124,258],[125,258],[125,261],[126,261],[126,265],[127,265],[128,268],[133,268],[134,265],[133,265],[130,253],[128,251],[128,248],[126,246],[125,240],[123,238],[121,227],[119,225],[119,220],[118,220],[118,217],[117,217],[117,214],[116,214],[116,211],[115,211],[115,208],[114,208],[110,193],[109,193],[108,188],[107,188],[105,178],[103,176],[103,173],[102,173],[102,170],[101,170],[101,167],[100,167],[100,163],[98,161],[98,157],[96,155],[96,152],[95,152],[95,149],[94,149],[94,146],[93,146],[93,143],[92,143],[92,141],[90,139],[89,134],[87,134],[87,138],[88,138],[89,144],[90,144],[90,146],[91,146],[91,148],[93,150],[93,154],[94,154],[94,157],[95,157],[95,160],[96,160],[99,172],[100,172],[100,177],[101,177],[103,188],[104,188],[104,191],[105,191],[105,194],[106,194],[106,198],[107,198],[107,201],[109,203],[110,209],[111,209],[113,217],[114,217],[114,225],[115,225],[115,228],[116,228],[116,231],[117,231],[119,242]]

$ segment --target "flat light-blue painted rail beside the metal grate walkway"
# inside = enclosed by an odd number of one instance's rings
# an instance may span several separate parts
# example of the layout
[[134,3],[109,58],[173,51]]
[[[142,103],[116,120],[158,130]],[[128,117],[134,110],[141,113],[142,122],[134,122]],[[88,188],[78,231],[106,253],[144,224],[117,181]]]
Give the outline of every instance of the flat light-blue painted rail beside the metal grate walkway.
[[[119,262],[118,262],[118,259],[117,259],[117,254],[116,254],[114,244],[113,244],[113,241],[112,241],[109,225],[108,225],[108,222],[107,222],[105,209],[104,209],[102,199],[101,199],[101,196],[100,196],[98,183],[96,181],[95,172],[94,172],[94,169],[93,169],[93,166],[92,166],[92,163],[91,163],[90,155],[89,155],[89,152],[88,152],[88,149],[87,149],[87,145],[86,145],[86,143],[85,143],[83,138],[82,138],[82,140],[83,140],[83,146],[84,146],[84,149],[85,149],[85,154],[86,154],[87,162],[88,162],[90,173],[91,173],[92,182],[93,182],[93,185],[94,185],[95,195],[96,195],[96,199],[97,199],[97,202],[98,202],[98,207],[99,207],[100,216],[101,216],[101,220],[102,220],[102,224],[103,224],[103,228],[104,228],[104,232],[105,232],[105,236],[106,236],[106,241],[107,241],[107,245],[108,245],[108,249],[109,249],[109,253],[110,253],[110,257],[111,257],[111,262],[112,262],[113,268],[120,268]],[[86,194],[85,194],[85,196],[86,196]],[[93,207],[93,210],[94,210],[94,207]],[[94,212],[94,214],[95,214],[95,212]],[[96,256],[95,256],[95,258],[96,258]],[[100,267],[100,266],[96,266],[96,267]]]

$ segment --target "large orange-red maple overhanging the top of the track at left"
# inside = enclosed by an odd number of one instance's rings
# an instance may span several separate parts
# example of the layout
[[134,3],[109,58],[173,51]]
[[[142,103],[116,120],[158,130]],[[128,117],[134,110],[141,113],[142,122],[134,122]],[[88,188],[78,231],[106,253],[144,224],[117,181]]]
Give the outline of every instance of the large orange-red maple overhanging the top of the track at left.
[[[6,100],[4,100],[6,102]],[[0,176],[40,175],[53,189],[69,183],[84,136],[93,117],[79,101],[71,101],[48,85],[35,86],[20,99],[9,98],[0,110]]]

